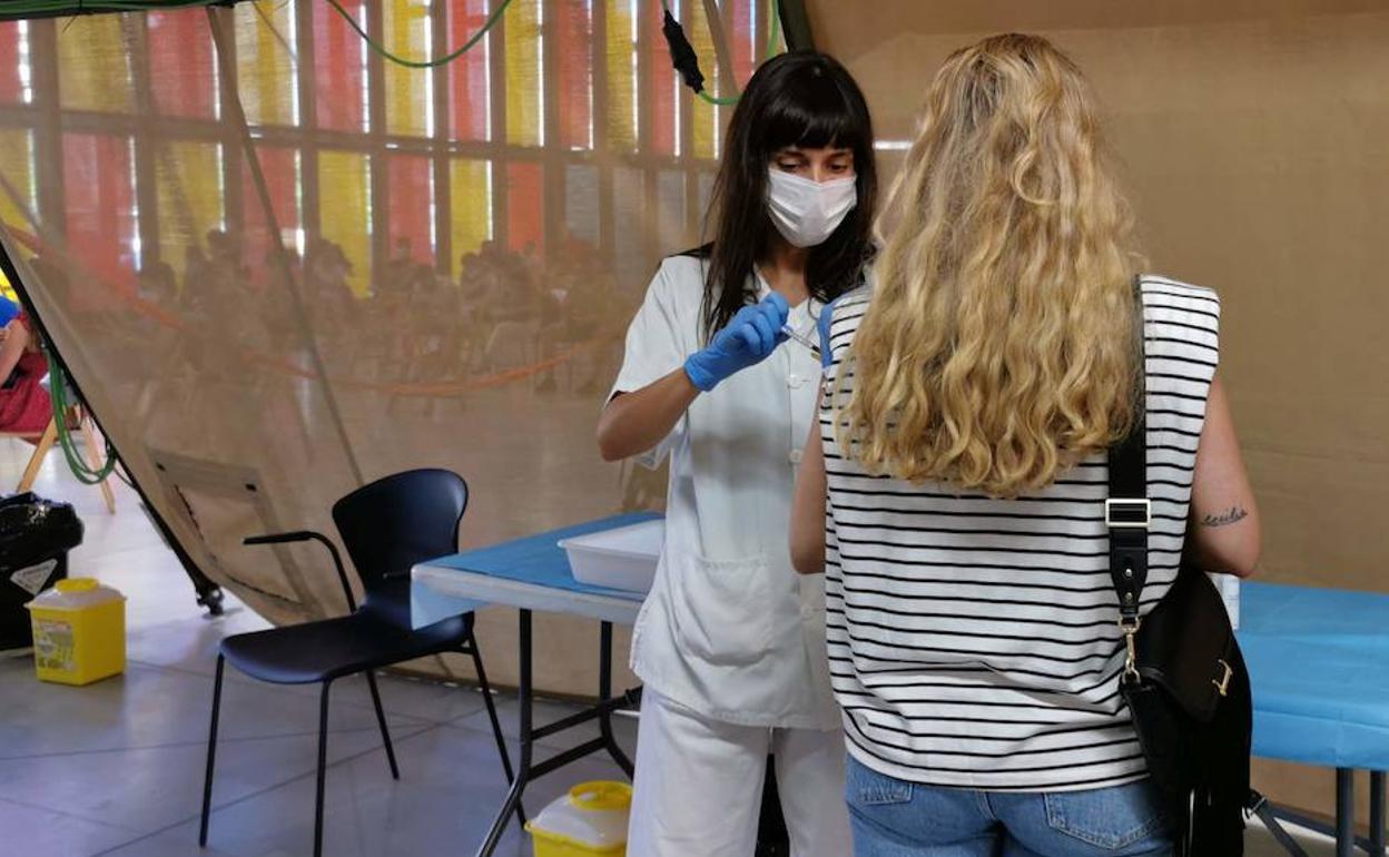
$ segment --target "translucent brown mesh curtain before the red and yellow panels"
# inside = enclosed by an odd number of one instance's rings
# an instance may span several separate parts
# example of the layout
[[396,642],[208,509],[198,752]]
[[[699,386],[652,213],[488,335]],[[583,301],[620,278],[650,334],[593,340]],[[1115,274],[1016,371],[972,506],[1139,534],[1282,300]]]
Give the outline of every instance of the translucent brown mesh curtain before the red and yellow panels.
[[[343,6],[424,58],[496,1]],[[770,10],[715,8],[718,63],[706,4],[674,6],[728,94]],[[678,88],[660,22],[658,0],[514,0],[435,69],[319,0],[0,25],[0,240],[217,583],[275,622],[339,613],[325,557],[240,539],[332,532],[333,500],[411,467],[469,482],[464,546],[664,501],[593,440],[731,113]]]

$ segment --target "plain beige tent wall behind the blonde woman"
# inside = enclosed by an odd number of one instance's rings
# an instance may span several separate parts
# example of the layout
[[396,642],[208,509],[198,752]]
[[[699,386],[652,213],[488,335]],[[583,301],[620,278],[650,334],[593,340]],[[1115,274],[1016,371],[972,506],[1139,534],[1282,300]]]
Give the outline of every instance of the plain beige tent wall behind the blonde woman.
[[[879,139],[911,138],[940,61],[979,36],[1039,32],[1081,63],[1151,268],[1224,297],[1221,375],[1265,515],[1263,579],[1389,592],[1389,3],[807,6]],[[1257,775],[1331,810],[1326,771]]]

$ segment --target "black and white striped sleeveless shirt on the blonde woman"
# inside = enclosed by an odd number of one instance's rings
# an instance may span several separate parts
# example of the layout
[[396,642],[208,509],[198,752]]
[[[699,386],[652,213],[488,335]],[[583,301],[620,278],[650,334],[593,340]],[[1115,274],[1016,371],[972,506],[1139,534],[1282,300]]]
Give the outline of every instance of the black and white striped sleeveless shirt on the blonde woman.
[[[1145,276],[1142,294],[1147,610],[1181,564],[1220,301],[1160,276]],[[835,304],[826,389],[867,306],[863,293]],[[1118,692],[1106,456],[1046,490],[997,500],[868,476],[840,456],[828,411],[821,426],[829,661],[850,753],[899,779],[983,790],[1078,790],[1145,776]]]

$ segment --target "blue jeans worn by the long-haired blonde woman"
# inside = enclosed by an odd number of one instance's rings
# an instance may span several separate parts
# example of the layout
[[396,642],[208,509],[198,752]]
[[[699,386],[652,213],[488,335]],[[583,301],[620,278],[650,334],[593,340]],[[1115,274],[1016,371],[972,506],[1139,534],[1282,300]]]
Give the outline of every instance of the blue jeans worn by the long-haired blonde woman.
[[1170,857],[1147,781],[1088,792],[940,789],[850,757],[856,857]]

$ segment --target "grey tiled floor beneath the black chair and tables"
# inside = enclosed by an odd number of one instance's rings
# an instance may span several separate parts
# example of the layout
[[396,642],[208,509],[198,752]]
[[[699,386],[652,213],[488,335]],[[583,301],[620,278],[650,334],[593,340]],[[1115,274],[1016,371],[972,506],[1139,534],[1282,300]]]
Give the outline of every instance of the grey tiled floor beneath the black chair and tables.
[[[14,485],[28,449],[0,440],[0,486]],[[117,486],[108,515],[94,489],[78,485],[49,457],[36,489],[78,507],[86,540],[74,575],[90,575],[128,597],[129,669],[74,689],[33,678],[24,657],[0,660],[0,857],[301,857],[311,851],[317,697],[314,688],[261,685],[228,669],[222,700],[213,826],[197,847],[204,740],[217,642],[264,626],[229,601],[207,618],[193,589]],[[386,765],[365,682],[333,692],[328,742],[326,846],[332,857],[472,854],[501,800],[504,779],[482,697],[471,689],[382,678],[401,779]],[[514,700],[501,717],[515,735]],[[565,713],[546,704],[546,719]],[[622,744],[635,724],[619,721]],[[565,738],[550,739],[551,747]],[[581,779],[619,776],[593,758],[542,779],[538,808]],[[1263,832],[1253,857],[1279,854]],[[1308,850],[1329,856],[1321,839]],[[513,826],[499,854],[529,853]]]

